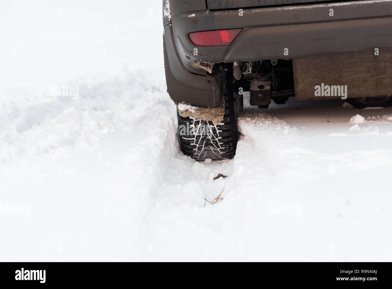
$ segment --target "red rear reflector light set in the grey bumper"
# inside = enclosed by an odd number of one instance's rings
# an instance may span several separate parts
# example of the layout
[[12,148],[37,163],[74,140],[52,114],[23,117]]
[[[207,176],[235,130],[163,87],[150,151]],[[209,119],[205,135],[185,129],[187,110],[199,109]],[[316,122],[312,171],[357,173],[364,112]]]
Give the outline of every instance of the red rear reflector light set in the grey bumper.
[[241,30],[242,28],[192,32],[189,33],[189,39],[197,46],[228,46]]

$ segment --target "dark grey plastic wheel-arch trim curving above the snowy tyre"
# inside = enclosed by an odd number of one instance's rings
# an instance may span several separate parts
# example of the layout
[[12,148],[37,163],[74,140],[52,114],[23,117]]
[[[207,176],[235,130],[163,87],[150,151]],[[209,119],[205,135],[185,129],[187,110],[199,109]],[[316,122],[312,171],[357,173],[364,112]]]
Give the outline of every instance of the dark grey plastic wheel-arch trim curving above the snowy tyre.
[[171,25],[164,26],[163,55],[167,92],[174,102],[211,108],[221,103],[223,77],[195,75],[185,69],[174,46]]

